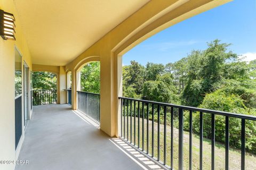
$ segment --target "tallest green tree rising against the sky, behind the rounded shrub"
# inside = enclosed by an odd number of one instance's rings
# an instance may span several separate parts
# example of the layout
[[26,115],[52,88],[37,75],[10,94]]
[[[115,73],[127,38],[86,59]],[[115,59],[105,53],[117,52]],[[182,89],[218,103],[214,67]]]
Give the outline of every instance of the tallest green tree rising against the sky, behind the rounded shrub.
[[201,104],[205,94],[213,91],[213,84],[221,81],[226,62],[237,58],[235,53],[227,52],[230,44],[217,39],[207,45],[206,50],[193,51],[188,56],[188,81],[181,96],[184,105]]

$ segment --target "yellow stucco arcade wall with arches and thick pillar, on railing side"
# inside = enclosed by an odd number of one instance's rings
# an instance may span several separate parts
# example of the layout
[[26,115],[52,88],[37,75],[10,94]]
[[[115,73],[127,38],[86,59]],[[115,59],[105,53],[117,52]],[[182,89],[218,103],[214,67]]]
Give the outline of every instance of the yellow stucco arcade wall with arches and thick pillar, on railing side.
[[[75,68],[81,61],[91,56],[100,56],[100,125],[102,131],[110,137],[118,135],[118,95],[121,95],[120,79],[122,78],[118,56],[122,56],[141,41],[171,25],[230,1],[150,1],[66,65],[66,70],[76,73]],[[73,109],[76,109],[75,79],[76,74],[73,74]]]

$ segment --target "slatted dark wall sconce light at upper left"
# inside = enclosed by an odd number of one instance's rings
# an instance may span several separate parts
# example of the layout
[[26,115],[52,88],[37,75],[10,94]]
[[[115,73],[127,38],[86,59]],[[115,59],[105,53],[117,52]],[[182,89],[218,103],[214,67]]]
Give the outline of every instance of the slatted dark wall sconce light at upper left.
[[4,39],[16,40],[15,33],[15,18],[13,14],[0,10],[0,36]]

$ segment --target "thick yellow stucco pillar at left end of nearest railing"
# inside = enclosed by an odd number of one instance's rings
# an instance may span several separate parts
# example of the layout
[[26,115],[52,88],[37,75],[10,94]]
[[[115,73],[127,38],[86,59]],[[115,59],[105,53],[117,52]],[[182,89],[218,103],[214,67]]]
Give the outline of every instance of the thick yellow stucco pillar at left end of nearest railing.
[[[119,64],[122,64],[120,61]],[[100,59],[100,129],[110,137],[118,134],[117,130],[117,57]]]

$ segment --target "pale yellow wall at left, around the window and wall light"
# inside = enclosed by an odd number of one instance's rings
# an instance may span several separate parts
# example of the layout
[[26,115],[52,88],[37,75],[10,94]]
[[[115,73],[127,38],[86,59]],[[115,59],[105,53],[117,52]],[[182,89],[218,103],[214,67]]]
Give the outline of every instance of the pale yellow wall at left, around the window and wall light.
[[[0,0],[0,9],[15,16],[15,37],[16,41],[3,40],[0,38],[0,160],[15,160],[18,158],[20,146],[24,138],[24,131],[20,139],[20,143],[15,151],[15,114],[14,114],[14,46],[17,47],[22,55],[22,63],[25,61],[31,71],[32,62],[28,50],[25,36],[22,33],[22,28],[19,16],[15,10],[13,1]],[[23,64],[22,64],[23,71]],[[22,73],[23,79],[23,73]],[[23,89],[23,83],[22,83]],[[23,91],[23,90],[22,90]],[[23,98],[23,97],[22,97]],[[23,107],[23,99],[22,99]],[[23,109],[22,109],[23,112]],[[31,115],[31,113],[30,113]],[[22,113],[23,116],[23,113]],[[23,122],[23,121],[22,121]],[[15,165],[0,165],[0,169],[14,169]]]

